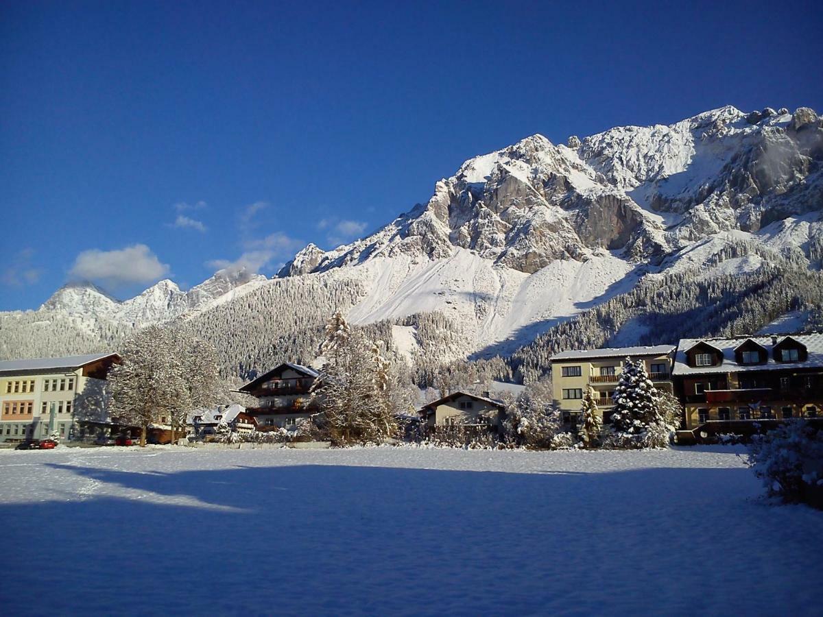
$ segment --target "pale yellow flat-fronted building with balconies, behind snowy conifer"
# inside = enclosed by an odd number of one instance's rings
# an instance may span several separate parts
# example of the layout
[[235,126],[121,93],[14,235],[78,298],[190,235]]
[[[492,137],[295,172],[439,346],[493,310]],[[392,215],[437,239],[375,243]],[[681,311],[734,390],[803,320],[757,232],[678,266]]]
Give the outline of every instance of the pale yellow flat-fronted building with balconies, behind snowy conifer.
[[564,420],[574,421],[580,412],[583,395],[588,386],[593,387],[597,406],[608,422],[614,403],[611,395],[626,358],[643,360],[654,386],[672,392],[672,358],[675,346],[613,347],[596,350],[562,351],[552,356],[551,384],[554,399]]

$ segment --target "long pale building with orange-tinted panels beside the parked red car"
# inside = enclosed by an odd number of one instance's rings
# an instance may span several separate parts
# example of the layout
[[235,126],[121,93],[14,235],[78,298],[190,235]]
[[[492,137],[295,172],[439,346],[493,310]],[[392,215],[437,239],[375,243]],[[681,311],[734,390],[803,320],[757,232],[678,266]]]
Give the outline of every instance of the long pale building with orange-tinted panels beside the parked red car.
[[0,442],[76,436],[107,420],[105,378],[117,354],[0,362]]

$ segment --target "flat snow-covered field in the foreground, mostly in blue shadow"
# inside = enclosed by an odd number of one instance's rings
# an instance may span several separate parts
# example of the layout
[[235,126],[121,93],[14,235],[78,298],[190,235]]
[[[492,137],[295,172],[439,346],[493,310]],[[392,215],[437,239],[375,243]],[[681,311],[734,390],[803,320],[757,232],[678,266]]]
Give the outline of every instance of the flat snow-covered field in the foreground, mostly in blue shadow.
[[0,452],[21,614],[820,614],[742,451]]

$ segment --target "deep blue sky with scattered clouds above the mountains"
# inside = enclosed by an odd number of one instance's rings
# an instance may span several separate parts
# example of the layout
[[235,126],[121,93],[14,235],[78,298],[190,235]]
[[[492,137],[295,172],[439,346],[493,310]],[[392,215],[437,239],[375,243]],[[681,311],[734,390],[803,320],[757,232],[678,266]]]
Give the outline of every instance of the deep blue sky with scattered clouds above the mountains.
[[535,132],[823,108],[818,3],[616,4],[0,2],[0,309],[272,275]]

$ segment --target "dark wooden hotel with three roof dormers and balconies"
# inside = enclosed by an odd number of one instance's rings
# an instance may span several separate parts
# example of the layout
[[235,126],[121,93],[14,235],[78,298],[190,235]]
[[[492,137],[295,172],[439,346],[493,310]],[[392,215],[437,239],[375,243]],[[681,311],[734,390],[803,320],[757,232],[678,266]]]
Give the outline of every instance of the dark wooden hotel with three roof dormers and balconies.
[[684,339],[672,375],[686,429],[740,433],[755,421],[817,418],[823,333]]

